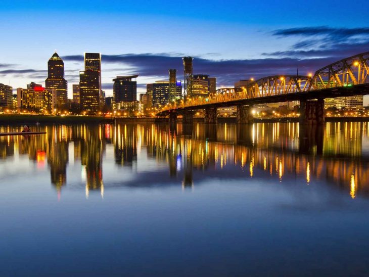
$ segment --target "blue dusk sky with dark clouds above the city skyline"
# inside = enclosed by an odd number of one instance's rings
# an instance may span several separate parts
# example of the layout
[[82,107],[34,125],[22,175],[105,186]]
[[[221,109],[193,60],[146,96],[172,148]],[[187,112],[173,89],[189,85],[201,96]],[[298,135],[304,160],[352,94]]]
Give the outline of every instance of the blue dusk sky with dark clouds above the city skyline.
[[[367,2],[351,1],[9,1],[0,7],[0,82],[13,89],[44,84],[57,50],[68,95],[83,70],[83,53],[102,53],[102,82],[139,73],[146,83],[166,79],[183,56],[194,73],[217,77],[217,87],[274,74],[314,73],[369,51]],[[364,97],[364,105],[369,97]]]

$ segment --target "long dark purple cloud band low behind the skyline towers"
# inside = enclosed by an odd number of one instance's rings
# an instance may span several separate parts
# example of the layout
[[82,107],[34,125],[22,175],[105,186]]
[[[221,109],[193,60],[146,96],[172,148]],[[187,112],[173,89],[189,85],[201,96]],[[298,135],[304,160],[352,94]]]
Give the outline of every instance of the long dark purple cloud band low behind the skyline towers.
[[[146,84],[140,83],[140,78],[167,79],[169,68],[177,69],[177,78],[183,80],[182,57],[183,55],[174,56],[173,54],[167,53],[103,55],[102,63],[103,70],[104,64],[118,65],[114,67],[117,75],[120,72],[124,72],[124,75],[139,73],[140,76],[137,78],[138,87],[145,88]],[[66,61],[77,61],[81,58],[83,59],[81,55],[63,57]],[[298,66],[301,70],[300,74],[308,74],[333,61],[334,59],[331,57],[316,59],[310,58],[307,54],[305,58],[291,56],[232,60],[213,60],[194,57],[194,73],[204,73],[217,77],[218,86],[233,86],[236,81],[251,77],[261,78],[276,74],[296,74]],[[119,65],[121,65],[121,68]],[[112,69],[107,70],[112,71]],[[112,89],[112,83],[103,84],[103,88]]]

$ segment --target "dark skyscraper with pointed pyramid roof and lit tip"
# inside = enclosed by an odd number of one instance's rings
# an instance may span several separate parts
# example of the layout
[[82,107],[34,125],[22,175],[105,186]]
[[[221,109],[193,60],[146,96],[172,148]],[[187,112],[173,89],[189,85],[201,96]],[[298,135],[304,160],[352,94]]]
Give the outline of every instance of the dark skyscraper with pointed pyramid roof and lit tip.
[[64,62],[56,52],[49,59],[48,78],[45,80],[45,85],[46,88],[55,89],[58,106],[68,103],[68,84],[64,79]]

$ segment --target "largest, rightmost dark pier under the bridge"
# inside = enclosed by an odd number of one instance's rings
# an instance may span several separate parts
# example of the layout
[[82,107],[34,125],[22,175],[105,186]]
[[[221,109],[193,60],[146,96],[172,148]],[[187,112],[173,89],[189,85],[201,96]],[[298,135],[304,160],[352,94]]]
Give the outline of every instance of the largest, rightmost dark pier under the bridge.
[[324,99],[300,101],[300,124],[322,125],[325,123]]

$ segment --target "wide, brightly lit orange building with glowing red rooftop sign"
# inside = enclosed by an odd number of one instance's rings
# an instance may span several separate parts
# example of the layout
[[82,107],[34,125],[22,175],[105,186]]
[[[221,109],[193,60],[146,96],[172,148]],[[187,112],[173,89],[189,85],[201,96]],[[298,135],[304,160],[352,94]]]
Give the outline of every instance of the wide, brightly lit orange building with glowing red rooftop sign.
[[17,88],[17,107],[20,109],[52,112],[56,104],[57,93],[54,88]]

